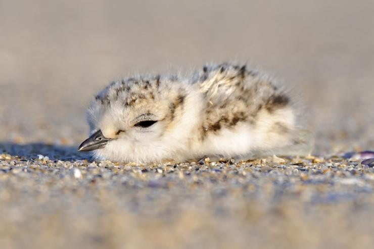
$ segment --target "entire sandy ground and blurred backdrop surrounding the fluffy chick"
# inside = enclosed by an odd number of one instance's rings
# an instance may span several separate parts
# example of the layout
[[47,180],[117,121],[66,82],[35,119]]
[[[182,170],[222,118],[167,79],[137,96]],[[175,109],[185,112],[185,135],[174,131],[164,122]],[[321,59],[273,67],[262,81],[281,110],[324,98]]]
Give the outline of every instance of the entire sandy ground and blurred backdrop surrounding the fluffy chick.
[[[372,248],[372,1],[0,0],[2,248]],[[316,158],[147,167],[76,146],[109,81],[237,60],[305,103]],[[49,159],[37,156],[43,155]]]

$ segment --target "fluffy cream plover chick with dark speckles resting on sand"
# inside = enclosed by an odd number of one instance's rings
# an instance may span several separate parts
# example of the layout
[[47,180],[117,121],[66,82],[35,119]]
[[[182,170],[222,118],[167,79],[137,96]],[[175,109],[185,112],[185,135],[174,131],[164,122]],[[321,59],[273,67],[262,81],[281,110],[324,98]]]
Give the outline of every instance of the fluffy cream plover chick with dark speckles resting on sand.
[[96,160],[249,160],[311,150],[297,104],[273,79],[245,65],[115,81],[99,92],[87,116],[91,136],[79,151],[93,151]]

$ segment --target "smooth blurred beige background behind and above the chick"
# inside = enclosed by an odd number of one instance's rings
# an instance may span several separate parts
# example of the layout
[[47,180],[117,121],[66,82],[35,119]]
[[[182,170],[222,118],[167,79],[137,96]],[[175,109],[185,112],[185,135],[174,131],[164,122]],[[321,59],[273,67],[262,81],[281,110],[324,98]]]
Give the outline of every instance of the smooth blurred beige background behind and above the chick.
[[374,146],[373,1],[0,0],[0,141],[76,145],[96,92],[237,60],[305,104],[316,152]]

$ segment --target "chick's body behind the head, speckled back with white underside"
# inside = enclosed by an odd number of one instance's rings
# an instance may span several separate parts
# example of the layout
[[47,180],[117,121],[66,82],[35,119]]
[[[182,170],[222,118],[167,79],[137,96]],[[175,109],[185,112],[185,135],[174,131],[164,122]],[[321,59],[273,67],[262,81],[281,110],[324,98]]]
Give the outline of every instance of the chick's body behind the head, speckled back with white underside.
[[297,105],[271,77],[246,65],[219,64],[203,67],[193,83],[205,98],[200,139],[212,151],[231,146],[247,158],[302,143]]

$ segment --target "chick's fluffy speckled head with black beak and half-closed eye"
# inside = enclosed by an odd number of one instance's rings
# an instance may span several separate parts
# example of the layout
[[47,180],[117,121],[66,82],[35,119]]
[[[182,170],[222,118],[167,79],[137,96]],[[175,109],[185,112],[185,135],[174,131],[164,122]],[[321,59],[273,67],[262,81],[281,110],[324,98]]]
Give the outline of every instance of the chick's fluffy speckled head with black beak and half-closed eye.
[[180,150],[199,116],[193,85],[177,77],[112,82],[88,110],[90,137],[79,151],[98,160],[150,163]]

